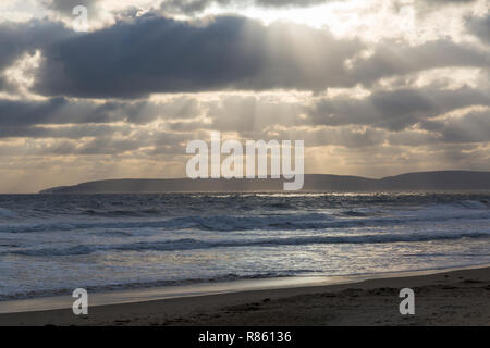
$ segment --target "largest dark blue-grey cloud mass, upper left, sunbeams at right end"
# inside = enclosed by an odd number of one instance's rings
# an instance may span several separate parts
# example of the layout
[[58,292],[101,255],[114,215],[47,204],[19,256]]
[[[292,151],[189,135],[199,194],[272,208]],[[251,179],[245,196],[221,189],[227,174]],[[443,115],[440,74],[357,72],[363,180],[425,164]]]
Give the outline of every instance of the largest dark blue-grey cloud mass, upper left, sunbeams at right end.
[[[151,34],[151,35],[149,35]],[[207,25],[156,16],[50,46],[36,90],[77,97],[351,85],[344,60],[363,48],[306,26],[220,16]]]

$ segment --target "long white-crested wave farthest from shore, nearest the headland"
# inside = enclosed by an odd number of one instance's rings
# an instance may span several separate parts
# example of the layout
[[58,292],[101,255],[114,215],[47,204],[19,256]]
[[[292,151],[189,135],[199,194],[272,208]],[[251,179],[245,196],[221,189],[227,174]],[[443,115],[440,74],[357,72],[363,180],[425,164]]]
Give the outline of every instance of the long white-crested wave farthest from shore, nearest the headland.
[[[373,214],[373,213],[372,213]],[[455,209],[449,211],[436,207],[427,210],[415,210],[411,214],[402,213],[400,216],[371,216],[368,212],[346,211],[339,214],[309,213],[282,215],[213,215],[213,216],[182,216],[166,220],[135,220],[135,221],[94,221],[79,220],[60,221],[51,223],[17,223],[0,224],[0,233],[34,233],[59,232],[74,229],[142,229],[156,228],[162,231],[201,229],[217,232],[233,231],[301,231],[301,229],[329,229],[352,227],[380,227],[397,224],[420,222],[439,222],[451,220],[489,220],[490,210],[475,210],[470,213]],[[352,219],[350,219],[352,217]]]

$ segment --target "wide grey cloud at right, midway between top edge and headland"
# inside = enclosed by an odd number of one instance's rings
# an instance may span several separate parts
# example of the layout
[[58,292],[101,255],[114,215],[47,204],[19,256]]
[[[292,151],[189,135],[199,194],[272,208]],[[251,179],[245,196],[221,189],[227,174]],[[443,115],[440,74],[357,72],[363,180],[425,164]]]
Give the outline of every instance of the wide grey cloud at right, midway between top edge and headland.
[[470,105],[490,105],[490,97],[463,87],[441,90],[431,87],[377,91],[364,99],[340,97],[318,101],[308,111],[317,125],[370,125],[402,130],[445,112]]

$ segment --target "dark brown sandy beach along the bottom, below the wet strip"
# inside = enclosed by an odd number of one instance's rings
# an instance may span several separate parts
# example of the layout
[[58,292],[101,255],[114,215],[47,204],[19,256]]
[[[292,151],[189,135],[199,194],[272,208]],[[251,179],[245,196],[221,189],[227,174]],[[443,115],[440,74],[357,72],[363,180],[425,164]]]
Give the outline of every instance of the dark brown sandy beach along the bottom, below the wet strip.
[[[415,291],[401,315],[400,289]],[[0,314],[0,325],[490,325],[490,268],[308,286]]]

